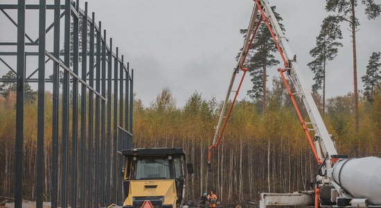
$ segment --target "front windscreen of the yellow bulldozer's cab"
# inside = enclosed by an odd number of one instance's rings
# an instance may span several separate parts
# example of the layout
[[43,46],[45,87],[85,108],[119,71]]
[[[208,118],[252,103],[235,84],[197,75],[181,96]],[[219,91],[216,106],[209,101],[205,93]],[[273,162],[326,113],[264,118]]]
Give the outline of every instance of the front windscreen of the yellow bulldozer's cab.
[[138,159],[135,179],[170,179],[168,159]]

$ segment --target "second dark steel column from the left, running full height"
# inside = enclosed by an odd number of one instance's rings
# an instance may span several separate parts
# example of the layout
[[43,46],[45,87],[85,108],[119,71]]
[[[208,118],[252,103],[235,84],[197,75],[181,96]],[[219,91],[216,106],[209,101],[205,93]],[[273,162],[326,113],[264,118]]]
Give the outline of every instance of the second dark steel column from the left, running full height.
[[44,113],[45,113],[45,25],[46,0],[39,0],[39,45],[38,45],[38,112],[37,112],[37,175],[36,207],[44,202]]

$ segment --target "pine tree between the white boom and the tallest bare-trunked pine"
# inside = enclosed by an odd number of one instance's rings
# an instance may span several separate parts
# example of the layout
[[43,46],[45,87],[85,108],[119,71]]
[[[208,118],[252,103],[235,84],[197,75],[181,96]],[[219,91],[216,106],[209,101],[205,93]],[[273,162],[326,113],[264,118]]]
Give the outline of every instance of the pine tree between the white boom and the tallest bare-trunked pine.
[[316,46],[310,51],[310,55],[314,58],[308,63],[308,67],[314,73],[315,83],[312,85],[312,92],[317,93],[319,89],[323,89],[323,112],[326,112],[326,64],[328,60],[336,58],[338,48],[343,46],[336,40],[342,38],[338,18],[328,16],[321,24],[320,33],[316,37]]

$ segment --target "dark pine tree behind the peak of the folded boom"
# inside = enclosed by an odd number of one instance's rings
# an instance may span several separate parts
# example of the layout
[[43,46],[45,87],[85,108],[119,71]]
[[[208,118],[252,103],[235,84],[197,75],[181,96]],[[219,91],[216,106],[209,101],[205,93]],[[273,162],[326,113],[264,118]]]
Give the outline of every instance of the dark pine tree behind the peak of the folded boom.
[[[276,6],[272,6],[272,11],[278,21],[282,21],[281,15],[275,12]],[[259,19],[260,14],[258,14],[257,19]],[[283,25],[281,28],[284,31]],[[246,34],[247,30],[240,30],[241,34]],[[256,37],[254,38],[251,48],[249,50],[249,55],[247,55],[246,65],[249,69],[251,76],[251,83],[253,87],[247,91],[250,98],[263,99],[262,110],[265,112],[267,95],[266,95],[266,82],[267,82],[267,67],[274,67],[279,64],[279,61],[275,59],[274,53],[277,51],[272,40],[272,36],[267,28],[264,21],[260,24]]]

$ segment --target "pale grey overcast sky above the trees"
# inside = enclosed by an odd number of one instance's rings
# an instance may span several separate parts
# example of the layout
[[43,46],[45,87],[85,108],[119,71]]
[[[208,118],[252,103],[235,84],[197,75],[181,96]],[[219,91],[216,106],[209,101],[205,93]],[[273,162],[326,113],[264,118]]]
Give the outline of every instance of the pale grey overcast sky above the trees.
[[[306,64],[312,60],[308,52],[327,15],[325,1],[270,3],[283,17],[285,34],[298,56],[305,83],[312,85],[313,75]],[[84,1],[80,4],[84,8]],[[96,12],[96,21],[102,21],[107,37],[113,37],[119,54],[124,54],[134,68],[134,91],[145,106],[154,101],[163,87],[170,88],[177,105],[183,106],[195,91],[204,98],[215,96],[223,100],[243,43],[239,30],[247,28],[253,6],[252,0],[91,0],[89,14]],[[357,15],[361,23],[357,32],[357,67],[362,89],[361,76],[369,56],[373,51],[381,51],[381,18],[368,21],[361,6]],[[1,23],[4,18],[0,18]],[[328,63],[328,97],[353,90],[351,37],[346,28],[348,25],[344,24],[344,47]],[[276,69],[280,66],[268,70],[269,84],[272,76],[278,76]],[[250,87],[247,77],[239,99],[246,96]]]

